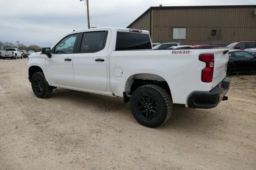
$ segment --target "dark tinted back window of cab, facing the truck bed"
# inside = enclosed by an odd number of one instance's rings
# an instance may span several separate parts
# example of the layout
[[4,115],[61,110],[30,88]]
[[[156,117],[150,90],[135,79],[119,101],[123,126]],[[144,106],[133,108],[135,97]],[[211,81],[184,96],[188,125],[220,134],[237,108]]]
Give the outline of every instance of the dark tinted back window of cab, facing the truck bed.
[[117,32],[116,51],[152,49],[150,36],[143,33]]

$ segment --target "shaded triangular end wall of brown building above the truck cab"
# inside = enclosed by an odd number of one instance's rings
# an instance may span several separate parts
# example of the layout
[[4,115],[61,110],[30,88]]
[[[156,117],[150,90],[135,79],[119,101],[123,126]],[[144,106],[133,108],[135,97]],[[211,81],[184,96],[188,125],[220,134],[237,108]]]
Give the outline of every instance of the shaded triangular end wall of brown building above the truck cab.
[[150,11],[144,14],[141,18],[139,18],[136,22],[130,25],[130,28],[133,29],[143,29],[150,31]]

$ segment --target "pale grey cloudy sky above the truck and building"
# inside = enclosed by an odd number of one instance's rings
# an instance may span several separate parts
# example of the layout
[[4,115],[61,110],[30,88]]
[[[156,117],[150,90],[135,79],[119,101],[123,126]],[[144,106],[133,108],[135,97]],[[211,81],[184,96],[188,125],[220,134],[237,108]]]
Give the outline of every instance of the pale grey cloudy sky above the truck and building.
[[[150,6],[252,5],[256,0],[89,0],[91,26],[126,27]],[[0,0],[0,41],[50,47],[87,28],[79,0]]]

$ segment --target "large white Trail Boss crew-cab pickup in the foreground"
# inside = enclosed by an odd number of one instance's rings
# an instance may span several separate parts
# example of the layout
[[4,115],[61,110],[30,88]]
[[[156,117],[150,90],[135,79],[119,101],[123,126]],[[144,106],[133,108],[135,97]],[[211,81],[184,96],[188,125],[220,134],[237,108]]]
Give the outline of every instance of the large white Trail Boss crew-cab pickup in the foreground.
[[228,49],[152,50],[148,31],[74,31],[29,56],[32,90],[47,98],[56,87],[118,96],[147,127],[166,122],[173,104],[212,108],[227,100]]

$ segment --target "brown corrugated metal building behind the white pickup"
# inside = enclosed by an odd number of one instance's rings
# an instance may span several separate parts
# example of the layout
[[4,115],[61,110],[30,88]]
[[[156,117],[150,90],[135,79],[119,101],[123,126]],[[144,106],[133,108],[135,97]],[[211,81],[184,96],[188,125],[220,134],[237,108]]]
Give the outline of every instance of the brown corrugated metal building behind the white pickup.
[[256,41],[256,5],[150,7],[127,28],[150,31],[152,43]]

